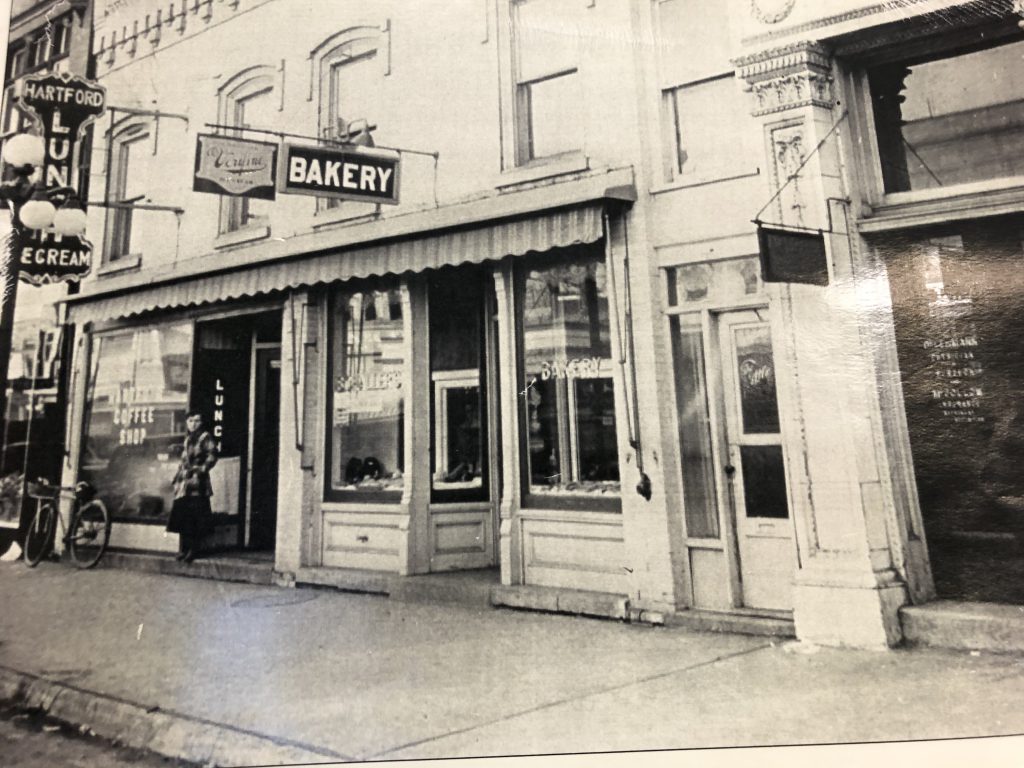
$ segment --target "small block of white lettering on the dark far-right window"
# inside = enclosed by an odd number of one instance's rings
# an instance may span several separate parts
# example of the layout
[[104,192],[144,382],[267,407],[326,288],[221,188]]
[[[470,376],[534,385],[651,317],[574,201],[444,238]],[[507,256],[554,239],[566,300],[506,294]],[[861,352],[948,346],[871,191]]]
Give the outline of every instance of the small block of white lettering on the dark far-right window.
[[942,416],[954,424],[981,424],[985,421],[979,411],[984,390],[977,386],[984,368],[976,358],[978,337],[971,334],[946,339],[926,340],[922,346],[929,350],[935,370],[937,386],[932,389],[932,401],[938,404]]

